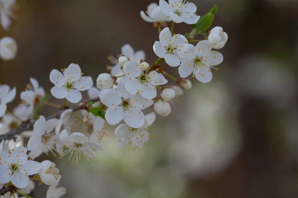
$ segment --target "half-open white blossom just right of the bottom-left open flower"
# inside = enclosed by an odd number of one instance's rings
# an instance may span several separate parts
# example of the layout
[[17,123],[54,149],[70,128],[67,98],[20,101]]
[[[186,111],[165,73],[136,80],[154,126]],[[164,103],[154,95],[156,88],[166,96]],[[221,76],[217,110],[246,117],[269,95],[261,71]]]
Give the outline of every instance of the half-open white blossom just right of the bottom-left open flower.
[[59,175],[59,169],[56,167],[56,164],[49,160],[41,162],[39,176],[41,181],[48,186],[58,185],[61,179],[61,175]]

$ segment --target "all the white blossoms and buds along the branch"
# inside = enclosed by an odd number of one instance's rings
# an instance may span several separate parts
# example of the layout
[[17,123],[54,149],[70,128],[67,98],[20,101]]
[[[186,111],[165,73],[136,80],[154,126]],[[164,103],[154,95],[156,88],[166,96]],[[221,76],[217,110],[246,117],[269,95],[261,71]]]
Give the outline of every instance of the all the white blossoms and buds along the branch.
[[[1,25],[7,30],[14,0],[2,1]],[[14,139],[0,138],[0,185],[14,188],[5,196],[9,198],[15,193],[26,197],[34,189],[33,180],[49,186],[47,198],[65,195],[65,188],[58,187],[61,175],[56,164],[34,160],[44,153],[67,157],[71,165],[81,159],[91,162],[97,150],[104,150],[100,142],[110,125],[117,125],[115,139],[120,148],[127,145],[134,150],[143,148],[151,137],[149,127],[156,114],[168,116],[177,97],[191,89],[187,77],[192,74],[201,83],[208,83],[213,78],[212,69],[218,70],[216,66],[224,60],[220,52],[213,50],[222,49],[227,42],[223,28],[215,27],[205,33],[208,35],[205,40],[173,33],[175,23],[200,23],[196,10],[194,3],[185,0],[159,0],[159,4],[151,3],[146,12],[140,12],[145,21],[158,27],[159,41],[152,45],[157,56],[154,63],[146,61],[143,50],[135,51],[126,44],[120,55],[108,57],[113,65],[107,66],[109,73],[98,75],[96,87],[92,77],[84,76],[78,64],[52,70],[50,93],[56,99],[64,99],[64,105],[48,101],[49,94],[36,79],[30,78],[20,93],[20,103],[9,111],[6,104],[15,99],[16,88],[0,85],[0,135],[4,137],[12,130],[21,130],[21,126],[30,126],[15,134]],[[166,27],[167,22],[172,22],[171,29]],[[3,60],[3,54],[6,59],[9,54],[14,57],[14,40],[6,38],[3,42],[5,45],[1,47],[0,40],[0,57]],[[180,77],[167,73],[167,65],[178,67]],[[81,102],[84,91],[88,102]],[[58,108],[58,114],[48,118],[40,115],[44,105]]]

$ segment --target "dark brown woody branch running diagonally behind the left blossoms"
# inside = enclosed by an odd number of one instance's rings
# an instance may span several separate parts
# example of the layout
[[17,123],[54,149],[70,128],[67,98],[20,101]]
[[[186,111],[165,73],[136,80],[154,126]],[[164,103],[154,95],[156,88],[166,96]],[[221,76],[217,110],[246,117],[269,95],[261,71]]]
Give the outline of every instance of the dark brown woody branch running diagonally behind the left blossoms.
[[[100,101],[100,99],[96,98],[96,99],[90,99],[90,100],[85,101],[85,102],[80,102],[80,103],[78,103],[77,106],[70,107],[70,108],[67,108],[67,109],[73,109],[74,111],[77,111],[79,109],[86,109],[87,103],[91,102],[91,101],[97,102],[97,101]],[[46,118],[46,120],[49,120],[49,119],[52,119],[52,118],[59,118],[60,115],[62,114],[62,112],[65,111],[65,110],[66,109],[63,109],[63,110],[60,110],[60,111],[58,111],[57,113],[55,113],[53,115],[50,115],[49,117]],[[31,120],[31,121],[20,124],[18,127],[8,131],[6,134],[0,135],[0,141],[1,140],[11,140],[11,139],[14,139],[15,135],[19,135],[24,131],[33,130],[34,123],[35,123],[35,120]]]

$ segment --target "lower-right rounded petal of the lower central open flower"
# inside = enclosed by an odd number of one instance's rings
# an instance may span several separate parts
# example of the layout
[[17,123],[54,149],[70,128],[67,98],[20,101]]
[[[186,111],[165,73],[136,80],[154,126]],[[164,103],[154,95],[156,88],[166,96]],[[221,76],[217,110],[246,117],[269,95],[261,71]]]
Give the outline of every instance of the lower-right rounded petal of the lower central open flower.
[[141,110],[128,109],[125,113],[124,121],[133,128],[140,128],[145,123],[145,116]]

